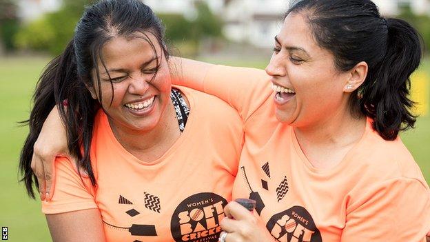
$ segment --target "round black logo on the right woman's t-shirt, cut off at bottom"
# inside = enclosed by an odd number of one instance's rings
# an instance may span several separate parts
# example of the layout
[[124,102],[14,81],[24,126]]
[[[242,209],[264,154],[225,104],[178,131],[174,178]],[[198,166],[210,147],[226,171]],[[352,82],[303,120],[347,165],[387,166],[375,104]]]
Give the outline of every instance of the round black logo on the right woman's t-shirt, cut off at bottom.
[[300,206],[294,206],[272,216],[267,230],[282,242],[322,242],[320,230],[316,228],[311,214]]

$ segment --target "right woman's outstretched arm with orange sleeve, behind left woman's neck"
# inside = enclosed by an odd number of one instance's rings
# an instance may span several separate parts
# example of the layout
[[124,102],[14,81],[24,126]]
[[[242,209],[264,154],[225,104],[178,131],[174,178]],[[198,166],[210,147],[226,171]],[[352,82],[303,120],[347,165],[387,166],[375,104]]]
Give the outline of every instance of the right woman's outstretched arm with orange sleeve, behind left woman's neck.
[[213,65],[174,57],[174,83],[212,94],[235,108],[244,123],[272,95],[269,76],[263,70]]

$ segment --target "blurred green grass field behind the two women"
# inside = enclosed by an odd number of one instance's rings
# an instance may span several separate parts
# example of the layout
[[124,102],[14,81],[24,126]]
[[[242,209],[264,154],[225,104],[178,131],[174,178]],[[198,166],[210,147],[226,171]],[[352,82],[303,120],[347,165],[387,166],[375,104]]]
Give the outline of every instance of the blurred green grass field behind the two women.
[[[47,61],[36,57],[0,59],[0,225],[8,226],[9,241],[50,241],[40,201],[29,199],[23,185],[17,182],[19,152],[28,132],[17,121],[28,118],[34,85]],[[221,63],[265,67],[264,61]],[[429,61],[422,70],[430,77]],[[416,126],[415,130],[402,134],[402,139],[430,182],[430,114],[420,117]]]

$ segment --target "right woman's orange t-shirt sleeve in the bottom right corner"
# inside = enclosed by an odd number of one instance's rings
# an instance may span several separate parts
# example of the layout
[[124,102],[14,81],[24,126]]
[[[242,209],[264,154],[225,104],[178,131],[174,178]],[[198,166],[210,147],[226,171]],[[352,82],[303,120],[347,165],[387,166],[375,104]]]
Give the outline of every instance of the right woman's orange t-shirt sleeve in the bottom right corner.
[[375,186],[347,208],[341,241],[425,242],[430,230],[430,191],[417,179]]

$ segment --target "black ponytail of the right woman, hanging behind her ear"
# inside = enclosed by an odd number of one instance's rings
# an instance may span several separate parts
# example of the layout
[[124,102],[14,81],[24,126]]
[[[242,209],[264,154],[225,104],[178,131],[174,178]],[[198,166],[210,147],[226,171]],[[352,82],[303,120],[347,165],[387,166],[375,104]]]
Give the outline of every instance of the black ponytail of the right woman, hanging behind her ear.
[[422,49],[420,37],[409,23],[387,19],[388,37],[384,59],[369,68],[362,86],[360,108],[373,119],[373,129],[383,139],[394,140],[400,130],[413,128],[416,116],[411,113],[415,104],[409,98],[411,74],[420,65]]

